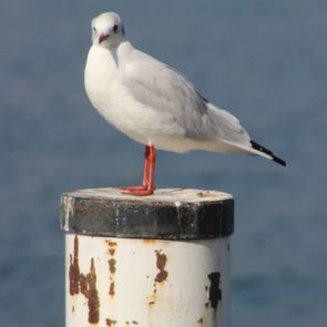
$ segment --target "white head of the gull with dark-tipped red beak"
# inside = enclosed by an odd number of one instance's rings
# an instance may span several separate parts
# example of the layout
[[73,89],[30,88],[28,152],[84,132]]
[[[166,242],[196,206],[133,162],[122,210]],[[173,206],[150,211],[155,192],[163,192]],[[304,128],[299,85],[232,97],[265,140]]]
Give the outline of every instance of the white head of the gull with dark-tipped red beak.
[[92,20],[93,45],[115,48],[125,37],[124,25],[115,12],[104,12]]

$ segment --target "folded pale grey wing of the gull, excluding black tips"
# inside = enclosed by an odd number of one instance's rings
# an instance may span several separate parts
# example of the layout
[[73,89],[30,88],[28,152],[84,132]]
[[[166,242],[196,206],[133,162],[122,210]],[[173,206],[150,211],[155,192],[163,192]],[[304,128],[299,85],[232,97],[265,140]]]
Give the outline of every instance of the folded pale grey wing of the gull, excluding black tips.
[[133,98],[152,108],[166,122],[176,124],[178,133],[198,142],[249,144],[239,121],[202,96],[181,73],[154,58],[143,54],[125,68],[125,84]]

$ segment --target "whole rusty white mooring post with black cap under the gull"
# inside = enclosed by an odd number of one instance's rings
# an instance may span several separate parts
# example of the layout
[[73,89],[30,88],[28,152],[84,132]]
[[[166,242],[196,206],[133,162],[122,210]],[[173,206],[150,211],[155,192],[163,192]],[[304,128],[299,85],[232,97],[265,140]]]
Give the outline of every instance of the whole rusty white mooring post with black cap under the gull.
[[67,327],[229,327],[229,194],[61,197]]

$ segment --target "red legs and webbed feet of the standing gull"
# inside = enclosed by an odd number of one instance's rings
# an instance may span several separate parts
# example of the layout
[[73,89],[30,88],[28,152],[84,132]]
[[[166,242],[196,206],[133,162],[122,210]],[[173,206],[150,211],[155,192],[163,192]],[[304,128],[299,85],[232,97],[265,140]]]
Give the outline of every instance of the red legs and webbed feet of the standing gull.
[[154,172],[155,172],[155,159],[156,153],[154,146],[145,146],[145,164],[144,164],[144,176],[142,186],[132,186],[132,187],[121,187],[126,191],[123,194],[130,195],[152,195],[155,186],[154,186]]

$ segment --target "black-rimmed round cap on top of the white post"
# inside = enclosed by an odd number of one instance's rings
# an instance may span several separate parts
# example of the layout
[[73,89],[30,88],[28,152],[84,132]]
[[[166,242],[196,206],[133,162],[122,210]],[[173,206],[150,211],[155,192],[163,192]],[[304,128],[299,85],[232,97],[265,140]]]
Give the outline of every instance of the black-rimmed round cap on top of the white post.
[[61,228],[109,237],[206,239],[234,231],[232,195],[165,188],[130,196],[116,188],[79,190],[61,196]]

